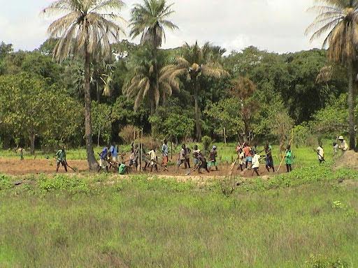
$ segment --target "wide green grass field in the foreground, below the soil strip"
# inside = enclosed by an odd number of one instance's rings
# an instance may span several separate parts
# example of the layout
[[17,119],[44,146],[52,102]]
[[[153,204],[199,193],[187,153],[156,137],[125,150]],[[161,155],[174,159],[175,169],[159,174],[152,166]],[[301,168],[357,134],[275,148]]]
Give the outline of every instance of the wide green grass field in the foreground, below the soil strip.
[[229,198],[217,181],[120,178],[2,175],[0,267],[358,266],[356,171],[296,169]]

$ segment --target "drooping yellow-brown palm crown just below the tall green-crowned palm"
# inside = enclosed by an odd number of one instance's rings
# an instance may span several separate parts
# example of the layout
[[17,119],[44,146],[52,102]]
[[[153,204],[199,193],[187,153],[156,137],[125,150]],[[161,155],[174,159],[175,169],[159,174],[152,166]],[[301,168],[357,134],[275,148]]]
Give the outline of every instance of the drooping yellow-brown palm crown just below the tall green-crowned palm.
[[130,63],[132,66],[129,68],[127,82],[124,83],[122,92],[128,98],[134,98],[134,110],[137,110],[143,101],[148,101],[150,113],[154,114],[160,101],[165,104],[166,99],[173,94],[173,91],[179,91],[180,81],[176,73],[169,71],[171,65],[160,68],[164,65],[164,59],[159,57],[159,61],[157,61],[159,67],[158,87],[151,87],[151,80],[155,75],[154,63],[145,52],[147,50],[144,50],[144,53],[139,53],[134,62]]

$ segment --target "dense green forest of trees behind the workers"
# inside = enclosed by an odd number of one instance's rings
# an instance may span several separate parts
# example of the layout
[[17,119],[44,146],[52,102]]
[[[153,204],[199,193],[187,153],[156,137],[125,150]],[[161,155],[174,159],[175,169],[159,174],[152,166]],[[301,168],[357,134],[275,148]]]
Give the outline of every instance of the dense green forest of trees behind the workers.
[[[0,45],[0,137],[4,148],[54,149],[59,144],[83,146],[82,60],[52,60],[56,40],[32,52]],[[195,98],[202,134],[215,140],[244,138],[279,142],[296,128],[298,142],[310,133],[347,132],[347,82],[343,68],[327,67],[325,50],[276,54],[247,47],[241,52],[206,43],[159,50],[160,75],[187,57],[189,64],[217,64],[222,75],[196,78],[187,73],[159,92],[145,92],[134,80],[150,76],[150,48],[127,40],[112,45],[110,61],[91,65],[94,142],[129,142],[135,131],[173,142],[197,137]],[[198,57],[199,56],[199,57]],[[192,64],[190,63],[192,61]],[[329,68],[329,70],[327,70]],[[328,74],[327,74],[328,73]],[[189,77],[188,77],[189,76]],[[329,79],[327,78],[329,76]],[[162,78],[159,77],[159,80]],[[196,91],[198,90],[198,91]],[[151,103],[158,94],[158,102]],[[197,96],[195,96],[195,94]]]

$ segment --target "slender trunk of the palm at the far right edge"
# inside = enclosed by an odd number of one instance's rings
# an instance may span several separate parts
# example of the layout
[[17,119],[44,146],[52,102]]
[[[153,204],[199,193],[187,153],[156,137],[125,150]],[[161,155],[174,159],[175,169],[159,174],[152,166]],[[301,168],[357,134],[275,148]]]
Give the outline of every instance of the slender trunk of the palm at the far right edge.
[[350,131],[350,150],[355,149],[355,92],[352,60],[348,61],[348,114]]

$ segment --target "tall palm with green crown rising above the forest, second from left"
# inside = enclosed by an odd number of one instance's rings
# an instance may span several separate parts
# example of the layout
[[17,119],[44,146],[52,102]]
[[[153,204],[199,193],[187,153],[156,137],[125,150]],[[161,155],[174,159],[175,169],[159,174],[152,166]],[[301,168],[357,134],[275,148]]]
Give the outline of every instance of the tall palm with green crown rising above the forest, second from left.
[[[168,5],[166,0],[143,0],[143,4],[135,4],[131,10],[131,31],[132,38],[141,36],[141,44],[146,44],[152,50],[152,75],[148,87],[154,92],[159,92],[159,66],[158,49],[162,46],[162,40],[165,40],[164,29],[172,31],[178,29],[176,24],[169,21],[169,17],[174,13],[171,10],[173,4]],[[149,90],[149,89],[148,89]],[[157,96],[157,95],[156,95]],[[157,103],[158,98],[153,103]],[[155,112],[153,106],[150,107],[151,114]]]

